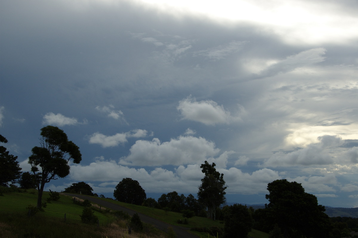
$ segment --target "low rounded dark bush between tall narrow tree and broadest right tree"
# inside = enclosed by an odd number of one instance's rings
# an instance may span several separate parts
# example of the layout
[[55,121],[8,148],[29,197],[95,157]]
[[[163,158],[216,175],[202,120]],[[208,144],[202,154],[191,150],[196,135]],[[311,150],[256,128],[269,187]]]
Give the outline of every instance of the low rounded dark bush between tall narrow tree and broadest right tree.
[[251,231],[253,220],[246,205],[234,204],[225,206],[224,213],[224,237],[247,237]]

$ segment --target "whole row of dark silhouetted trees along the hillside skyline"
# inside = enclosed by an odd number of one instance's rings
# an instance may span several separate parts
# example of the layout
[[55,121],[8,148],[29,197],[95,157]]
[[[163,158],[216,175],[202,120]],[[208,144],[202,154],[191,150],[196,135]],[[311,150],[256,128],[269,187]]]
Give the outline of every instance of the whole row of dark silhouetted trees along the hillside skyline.
[[[29,156],[32,174],[21,175],[17,157],[10,155],[5,147],[0,146],[0,185],[7,186],[15,181],[19,181],[21,186],[35,184],[38,189],[38,208],[42,206],[44,185],[50,180],[66,177],[70,171],[69,161],[78,164],[82,160],[79,147],[69,141],[66,133],[58,127],[43,127],[40,135],[42,136],[40,146],[33,147],[32,155]],[[8,141],[0,135],[0,142]],[[266,204],[265,209],[253,211],[239,204],[220,209],[226,203],[227,187],[223,174],[216,171],[215,166],[214,163],[209,164],[207,161],[200,166],[204,178],[201,179],[202,183],[198,187],[198,199],[192,194],[185,197],[173,191],[163,194],[158,201],[154,199],[153,201],[146,198],[145,191],[138,181],[130,178],[125,178],[118,183],[113,195],[117,200],[126,203],[152,204],[173,211],[192,210],[197,215],[200,210],[206,208],[208,218],[214,220],[217,219],[219,210],[221,213],[219,217],[225,222],[227,237],[238,234],[237,228],[243,232],[241,237],[245,237],[252,225],[257,229],[272,232],[272,237],[332,237],[332,223],[324,213],[325,208],[318,205],[317,198],[305,193],[301,184],[288,182],[285,179],[268,184],[269,194],[266,195],[266,199],[269,200],[269,204]],[[26,181],[30,181],[28,185]],[[78,187],[88,190],[86,184],[81,182],[73,184],[66,191],[78,192],[76,190]],[[79,191],[82,193],[81,189]],[[92,195],[92,188],[89,191],[89,195]]]

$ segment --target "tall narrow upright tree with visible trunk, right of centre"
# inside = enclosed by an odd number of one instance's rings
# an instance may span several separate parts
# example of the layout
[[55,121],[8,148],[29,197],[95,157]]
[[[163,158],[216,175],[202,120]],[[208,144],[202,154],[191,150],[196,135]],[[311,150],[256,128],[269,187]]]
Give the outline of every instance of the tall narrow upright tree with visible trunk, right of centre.
[[202,184],[198,191],[198,201],[207,206],[208,217],[213,220],[215,220],[216,208],[226,202],[225,189],[227,188],[223,179],[224,174],[216,171],[215,166],[215,163],[210,165],[208,161],[200,166],[205,176],[201,179]]

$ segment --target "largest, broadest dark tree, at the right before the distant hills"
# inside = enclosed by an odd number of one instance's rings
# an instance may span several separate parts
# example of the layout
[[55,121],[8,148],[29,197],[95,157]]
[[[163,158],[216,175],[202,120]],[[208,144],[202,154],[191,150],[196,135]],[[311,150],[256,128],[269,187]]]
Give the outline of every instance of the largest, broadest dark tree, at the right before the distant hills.
[[318,205],[316,196],[305,193],[301,184],[275,180],[267,190],[267,219],[272,228],[277,224],[284,237],[328,237],[332,226],[324,206]]

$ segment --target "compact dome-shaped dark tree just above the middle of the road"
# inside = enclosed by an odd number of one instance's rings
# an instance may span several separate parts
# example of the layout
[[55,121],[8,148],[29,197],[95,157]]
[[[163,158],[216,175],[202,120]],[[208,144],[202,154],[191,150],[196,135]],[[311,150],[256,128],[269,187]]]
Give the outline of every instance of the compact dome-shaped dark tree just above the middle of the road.
[[122,181],[117,184],[113,196],[117,201],[135,205],[142,205],[147,198],[144,189],[140,186],[138,181],[131,178],[122,179]]

